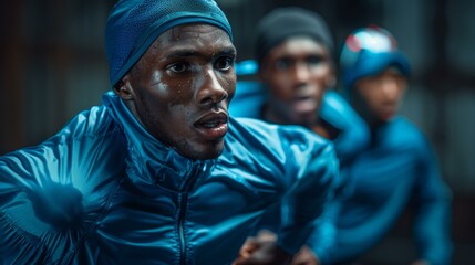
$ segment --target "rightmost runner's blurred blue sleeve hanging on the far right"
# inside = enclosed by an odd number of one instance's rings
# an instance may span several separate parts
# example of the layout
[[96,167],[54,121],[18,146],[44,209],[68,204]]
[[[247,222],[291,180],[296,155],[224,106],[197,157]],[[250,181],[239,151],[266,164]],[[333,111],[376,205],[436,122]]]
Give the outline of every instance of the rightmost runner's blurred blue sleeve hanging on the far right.
[[425,139],[422,141],[419,179],[414,192],[416,216],[414,236],[420,258],[435,265],[451,262],[452,193],[444,183],[435,155]]

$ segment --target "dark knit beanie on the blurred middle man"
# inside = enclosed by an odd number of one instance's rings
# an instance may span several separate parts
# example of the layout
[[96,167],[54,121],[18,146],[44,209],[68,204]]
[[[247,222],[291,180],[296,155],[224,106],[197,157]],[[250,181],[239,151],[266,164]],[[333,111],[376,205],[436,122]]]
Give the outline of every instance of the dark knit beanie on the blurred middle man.
[[333,40],[324,20],[302,8],[278,8],[265,15],[257,25],[256,57],[259,63],[270,50],[288,38],[306,35],[333,51]]

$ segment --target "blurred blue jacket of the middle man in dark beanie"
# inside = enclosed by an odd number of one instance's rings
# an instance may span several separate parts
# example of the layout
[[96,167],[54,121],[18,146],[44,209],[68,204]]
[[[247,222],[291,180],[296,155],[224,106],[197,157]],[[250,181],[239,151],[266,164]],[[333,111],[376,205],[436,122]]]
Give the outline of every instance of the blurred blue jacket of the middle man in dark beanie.
[[[249,65],[249,62],[245,62]],[[245,72],[248,74],[249,72]],[[264,119],[262,107],[267,100],[267,89],[256,81],[239,81],[236,95],[231,102],[229,113],[234,117]],[[307,244],[324,259],[328,248],[334,244],[337,233],[335,219],[340,211],[340,200],[353,190],[348,179],[348,166],[355,159],[370,141],[369,129],[363,119],[351,108],[344,98],[337,92],[328,91],[322,99],[319,118],[326,126],[337,130],[338,136],[332,140],[337,157],[340,161],[340,178],[335,181],[338,200],[332,200],[324,210],[324,214],[316,220],[316,230],[311,233]],[[313,132],[310,132],[313,134]],[[279,225],[279,215],[286,212],[286,206],[279,205],[267,211],[266,218],[259,223],[259,229],[276,231]],[[282,211],[281,211],[282,210]],[[281,216],[286,219],[286,216]]]

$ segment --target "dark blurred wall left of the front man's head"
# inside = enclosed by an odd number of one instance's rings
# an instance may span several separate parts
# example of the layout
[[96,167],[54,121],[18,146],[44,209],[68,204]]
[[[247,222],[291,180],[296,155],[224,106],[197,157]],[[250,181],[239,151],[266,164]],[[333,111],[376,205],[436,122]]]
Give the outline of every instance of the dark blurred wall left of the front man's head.
[[107,91],[103,50],[113,1],[0,3],[0,152],[40,142]]

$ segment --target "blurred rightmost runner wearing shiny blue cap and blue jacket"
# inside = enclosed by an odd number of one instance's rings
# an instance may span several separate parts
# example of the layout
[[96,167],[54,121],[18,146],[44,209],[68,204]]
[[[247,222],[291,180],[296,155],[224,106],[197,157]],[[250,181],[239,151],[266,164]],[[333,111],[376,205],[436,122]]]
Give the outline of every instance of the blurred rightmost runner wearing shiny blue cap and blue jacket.
[[343,92],[370,128],[370,145],[348,170],[353,191],[342,203],[335,244],[322,264],[358,259],[411,205],[413,264],[450,264],[450,190],[423,132],[396,115],[410,75],[406,56],[391,33],[369,26],[345,39],[340,66]]

